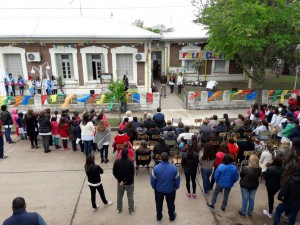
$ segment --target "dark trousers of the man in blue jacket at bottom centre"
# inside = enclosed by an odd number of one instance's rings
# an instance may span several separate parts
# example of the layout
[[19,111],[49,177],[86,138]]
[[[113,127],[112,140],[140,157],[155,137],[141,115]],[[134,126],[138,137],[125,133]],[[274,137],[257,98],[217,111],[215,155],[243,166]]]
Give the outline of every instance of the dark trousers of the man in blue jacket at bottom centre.
[[164,197],[166,196],[167,206],[168,206],[168,214],[170,220],[175,219],[175,198],[176,198],[176,191],[174,190],[171,193],[161,193],[155,190],[155,203],[156,203],[156,218],[158,220],[162,219],[162,209],[163,209],[163,202]]

